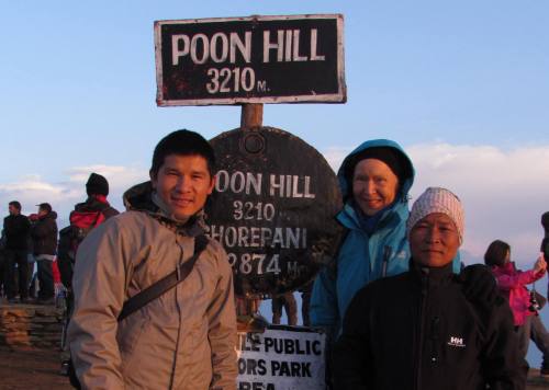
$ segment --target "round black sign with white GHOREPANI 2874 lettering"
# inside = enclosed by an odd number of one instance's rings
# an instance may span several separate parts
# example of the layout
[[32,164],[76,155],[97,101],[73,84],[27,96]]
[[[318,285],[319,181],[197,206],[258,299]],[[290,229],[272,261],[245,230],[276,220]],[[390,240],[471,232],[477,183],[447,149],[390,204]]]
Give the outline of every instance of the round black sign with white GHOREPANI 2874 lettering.
[[228,253],[235,294],[264,299],[307,285],[341,234],[335,172],[316,149],[274,127],[236,128],[210,142],[217,180],[208,234]]

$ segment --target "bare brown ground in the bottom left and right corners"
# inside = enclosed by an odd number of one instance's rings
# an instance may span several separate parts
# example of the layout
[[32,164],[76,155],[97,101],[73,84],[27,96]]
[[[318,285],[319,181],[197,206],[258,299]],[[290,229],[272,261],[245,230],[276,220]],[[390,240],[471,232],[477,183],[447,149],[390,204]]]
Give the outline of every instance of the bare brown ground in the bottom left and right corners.
[[[59,375],[59,352],[0,349],[0,389],[70,390],[67,377]],[[549,379],[530,370],[527,390],[549,389]]]

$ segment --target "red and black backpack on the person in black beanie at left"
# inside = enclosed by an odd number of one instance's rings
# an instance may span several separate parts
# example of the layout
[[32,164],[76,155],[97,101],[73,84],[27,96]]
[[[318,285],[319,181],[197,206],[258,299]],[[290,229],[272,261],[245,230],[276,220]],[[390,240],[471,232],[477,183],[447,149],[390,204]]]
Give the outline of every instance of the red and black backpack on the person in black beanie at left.
[[86,236],[101,225],[105,216],[101,210],[98,211],[77,211],[70,213],[70,225],[59,230],[59,242],[57,243],[57,259],[59,261],[59,272],[65,287],[69,288],[72,279],[72,268],[75,266],[78,245]]

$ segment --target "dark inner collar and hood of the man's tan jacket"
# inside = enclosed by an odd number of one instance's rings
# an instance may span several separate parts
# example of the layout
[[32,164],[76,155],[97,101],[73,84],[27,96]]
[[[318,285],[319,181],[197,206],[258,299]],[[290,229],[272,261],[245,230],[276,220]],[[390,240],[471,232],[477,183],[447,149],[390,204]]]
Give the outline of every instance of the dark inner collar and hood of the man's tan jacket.
[[124,206],[128,210],[146,213],[161,225],[179,234],[197,237],[206,231],[204,211],[200,210],[187,221],[178,221],[159,207],[158,199],[154,200],[154,191],[150,181],[134,185],[124,195]]

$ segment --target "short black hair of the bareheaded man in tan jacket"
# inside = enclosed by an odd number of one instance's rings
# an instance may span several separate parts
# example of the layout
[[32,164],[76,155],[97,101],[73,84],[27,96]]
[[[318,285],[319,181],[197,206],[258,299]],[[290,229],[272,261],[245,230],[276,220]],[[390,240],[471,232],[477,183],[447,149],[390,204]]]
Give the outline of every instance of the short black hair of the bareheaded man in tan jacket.
[[210,175],[215,173],[215,154],[210,142],[200,134],[191,130],[176,130],[164,137],[155,148],[153,153],[153,164],[150,173],[156,176],[164,160],[169,154],[178,156],[201,156],[206,160]]

